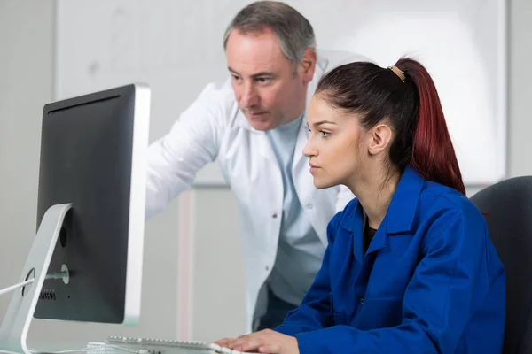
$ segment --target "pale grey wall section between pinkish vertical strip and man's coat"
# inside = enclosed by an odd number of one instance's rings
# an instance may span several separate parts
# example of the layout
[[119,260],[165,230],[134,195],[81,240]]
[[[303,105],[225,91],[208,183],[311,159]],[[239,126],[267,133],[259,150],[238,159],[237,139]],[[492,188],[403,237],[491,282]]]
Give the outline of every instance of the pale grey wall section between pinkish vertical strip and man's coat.
[[192,338],[240,335],[246,318],[236,200],[229,189],[197,189],[194,204]]

